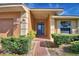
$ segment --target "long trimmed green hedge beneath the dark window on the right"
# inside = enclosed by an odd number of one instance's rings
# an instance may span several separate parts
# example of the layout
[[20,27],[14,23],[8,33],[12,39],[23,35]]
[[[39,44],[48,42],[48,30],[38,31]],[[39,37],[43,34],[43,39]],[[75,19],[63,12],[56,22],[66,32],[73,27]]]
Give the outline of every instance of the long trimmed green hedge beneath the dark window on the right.
[[79,37],[79,34],[52,34],[52,37],[54,38],[55,44],[59,46],[64,43],[74,41],[77,37]]

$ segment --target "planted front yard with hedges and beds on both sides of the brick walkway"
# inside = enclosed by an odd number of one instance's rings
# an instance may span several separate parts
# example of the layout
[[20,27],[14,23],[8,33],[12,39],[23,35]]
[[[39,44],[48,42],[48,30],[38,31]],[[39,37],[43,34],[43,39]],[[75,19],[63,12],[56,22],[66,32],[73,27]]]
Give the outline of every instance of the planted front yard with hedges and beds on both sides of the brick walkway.
[[[0,56],[33,56],[33,49],[35,49],[33,37],[29,34],[27,37],[0,38]],[[54,42],[42,41],[39,38],[40,51],[41,48],[47,48],[50,56],[79,56],[79,34],[53,34],[52,37]]]

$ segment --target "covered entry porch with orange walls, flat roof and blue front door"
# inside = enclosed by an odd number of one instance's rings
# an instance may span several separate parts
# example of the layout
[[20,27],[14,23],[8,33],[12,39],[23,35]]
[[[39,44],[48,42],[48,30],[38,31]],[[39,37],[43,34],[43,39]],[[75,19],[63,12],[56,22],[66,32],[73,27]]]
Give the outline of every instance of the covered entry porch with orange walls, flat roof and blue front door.
[[31,27],[37,37],[50,38],[50,20],[61,9],[31,9]]

